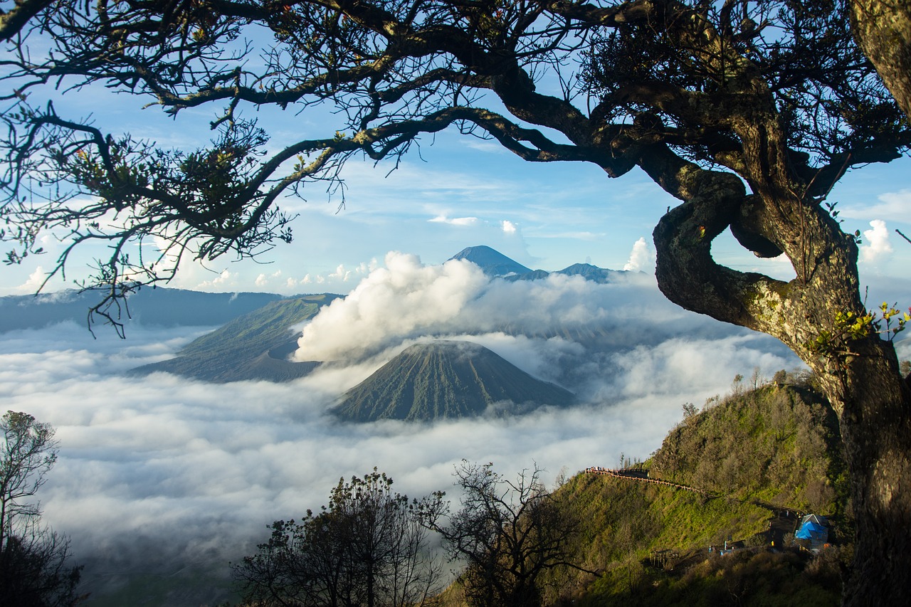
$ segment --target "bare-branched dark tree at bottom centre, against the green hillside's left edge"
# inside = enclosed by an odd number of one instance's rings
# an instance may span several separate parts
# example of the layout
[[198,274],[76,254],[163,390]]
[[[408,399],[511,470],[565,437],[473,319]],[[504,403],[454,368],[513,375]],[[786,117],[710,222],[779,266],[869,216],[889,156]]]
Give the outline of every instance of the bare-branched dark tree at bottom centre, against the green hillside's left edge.
[[541,604],[542,574],[571,567],[575,520],[541,484],[541,469],[522,471],[515,481],[493,464],[463,460],[455,468],[462,507],[448,524],[432,520],[444,546],[464,561],[459,580],[475,607],[530,607]]

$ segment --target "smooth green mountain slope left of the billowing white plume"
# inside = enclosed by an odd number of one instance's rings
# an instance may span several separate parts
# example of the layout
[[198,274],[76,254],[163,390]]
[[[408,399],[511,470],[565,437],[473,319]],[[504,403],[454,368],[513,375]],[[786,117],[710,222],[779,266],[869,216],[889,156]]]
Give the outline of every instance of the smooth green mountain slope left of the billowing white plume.
[[140,366],[134,372],[165,371],[210,382],[281,382],[305,376],[319,363],[285,360],[300,336],[292,326],[311,319],[336,297],[339,295],[324,293],[271,302],[194,340],[177,357]]

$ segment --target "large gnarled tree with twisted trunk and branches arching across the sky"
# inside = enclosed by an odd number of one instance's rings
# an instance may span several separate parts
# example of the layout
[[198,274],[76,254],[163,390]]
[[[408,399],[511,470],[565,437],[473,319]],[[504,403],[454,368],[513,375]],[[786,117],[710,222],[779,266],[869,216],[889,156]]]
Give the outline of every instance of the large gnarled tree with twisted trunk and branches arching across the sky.
[[[36,252],[47,231],[70,245],[55,272],[74,247],[107,243],[86,286],[104,290],[95,311],[117,324],[119,299],[167,280],[181,256],[252,255],[290,240],[281,195],[332,188],[346,160],[394,161],[442,129],[529,161],[590,162],[609,177],[638,167],[681,201],[653,232],[661,291],[782,340],[840,417],[858,522],[845,602],[900,602],[911,592],[901,565],[911,561],[911,388],[878,334],[882,316],[861,299],[855,235],[827,201],[846,170],[911,144],[908,118],[855,43],[862,5],[59,2],[5,63],[16,104],[5,115],[7,262]],[[45,55],[29,48],[38,33]],[[263,61],[245,62],[254,41]],[[205,149],[158,149],[29,104],[58,84],[109,87],[170,114],[219,107],[216,136]],[[340,122],[273,151],[243,115],[267,107],[331,108]],[[793,280],[714,260],[711,242],[729,228],[760,257],[783,253]],[[168,251],[128,254],[153,238]]]

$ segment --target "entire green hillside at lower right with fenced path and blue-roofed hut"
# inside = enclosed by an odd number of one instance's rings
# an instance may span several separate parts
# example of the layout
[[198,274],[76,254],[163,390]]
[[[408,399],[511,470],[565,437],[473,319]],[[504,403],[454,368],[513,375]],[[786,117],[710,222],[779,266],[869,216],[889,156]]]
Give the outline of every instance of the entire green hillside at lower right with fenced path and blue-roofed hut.
[[[807,512],[829,517],[834,543],[852,537],[831,409],[806,386],[770,384],[690,412],[641,478],[583,472],[558,490],[579,521],[578,562],[599,575],[564,573],[548,602],[837,605],[850,548],[782,550]],[[719,556],[725,540],[742,550]]]

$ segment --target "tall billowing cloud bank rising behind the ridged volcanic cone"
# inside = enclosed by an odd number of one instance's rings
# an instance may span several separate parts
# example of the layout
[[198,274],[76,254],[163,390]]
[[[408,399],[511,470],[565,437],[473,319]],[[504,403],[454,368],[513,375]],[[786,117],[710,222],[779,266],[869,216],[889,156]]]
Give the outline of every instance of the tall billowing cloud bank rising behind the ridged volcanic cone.
[[[776,340],[670,304],[650,274],[618,274],[607,284],[562,274],[508,282],[489,280],[470,262],[425,265],[415,255],[393,252],[385,267],[302,327],[295,359],[334,361],[336,368],[358,363],[359,373],[343,374],[350,382],[338,386],[344,391],[407,345],[432,337],[485,345],[590,403],[616,396],[616,386],[608,385],[636,371],[626,361],[641,356],[642,348],[665,347],[670,356],[670,350],[729,339],[744,351],[762,350],[778,360],[791,356]],[[691,368],[675,371],[691,377],[711,376],[718,368],[699,368],[699,355],[681,356]],[[771,364],[755,358],[747,371]]]

